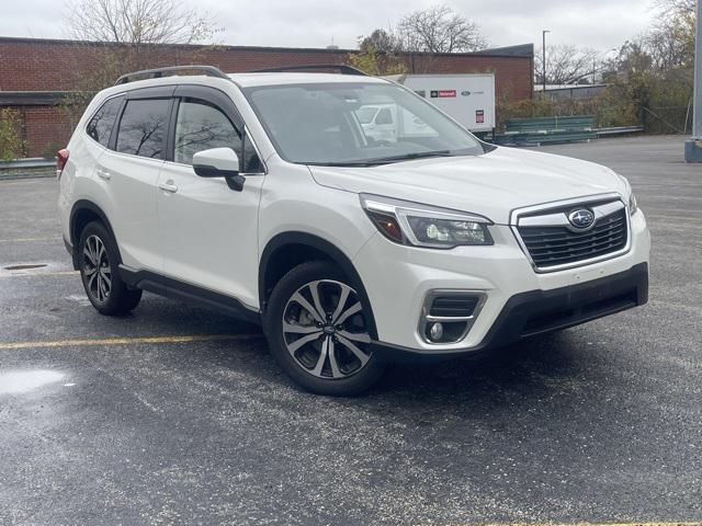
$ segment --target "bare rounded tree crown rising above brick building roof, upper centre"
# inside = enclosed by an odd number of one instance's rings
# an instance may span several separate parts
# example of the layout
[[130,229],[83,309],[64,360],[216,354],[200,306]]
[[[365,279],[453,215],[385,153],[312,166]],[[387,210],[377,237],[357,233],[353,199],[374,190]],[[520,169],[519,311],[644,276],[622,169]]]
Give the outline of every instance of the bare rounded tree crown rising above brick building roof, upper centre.
[[399,21],[397,34],[407,52],[461,53],[486,47],[477,24],[448,5],[412,11]]

